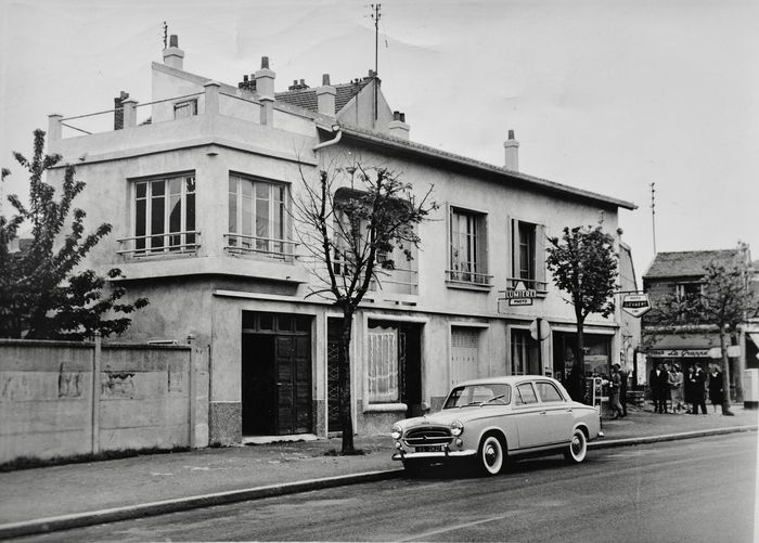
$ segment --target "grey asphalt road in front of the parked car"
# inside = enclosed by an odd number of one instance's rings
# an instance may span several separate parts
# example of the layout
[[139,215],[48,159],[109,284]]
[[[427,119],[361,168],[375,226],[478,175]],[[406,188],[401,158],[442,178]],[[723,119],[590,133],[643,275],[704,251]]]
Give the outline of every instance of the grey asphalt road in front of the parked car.
[[[757,435],[435,471],[149,517],[24,541],[752,542]],[[759,533],[756,535],[759,536]]]

